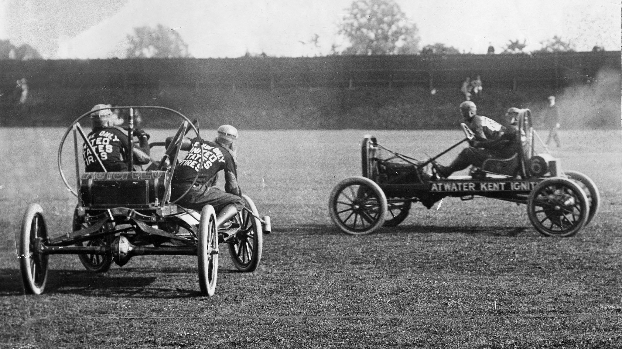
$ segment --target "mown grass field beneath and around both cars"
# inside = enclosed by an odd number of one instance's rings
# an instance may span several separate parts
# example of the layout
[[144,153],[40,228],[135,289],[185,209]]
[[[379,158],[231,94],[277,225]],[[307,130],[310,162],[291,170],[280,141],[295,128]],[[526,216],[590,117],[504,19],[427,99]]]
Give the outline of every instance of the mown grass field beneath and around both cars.
[[[56,236],[77,202],[58,176],[62,132],[0,129],[0,348],[622,347],[620,131],[562,132],[553,155],[601,193],[592,223],[564,239],[537,233],[525,206],[483,198],[415,204],[399,227],[345,235],[328,194],[360,174],[369,132],[241,131],[241,188],[272,217],[256,272],[234,271],[225,252],[216,295],[203,297],[193,257],[138,256],[94,275],[54,255],[45,294],[24,296],[15,241],[27,204]],[[420,159],[462,137],[375,134]]]

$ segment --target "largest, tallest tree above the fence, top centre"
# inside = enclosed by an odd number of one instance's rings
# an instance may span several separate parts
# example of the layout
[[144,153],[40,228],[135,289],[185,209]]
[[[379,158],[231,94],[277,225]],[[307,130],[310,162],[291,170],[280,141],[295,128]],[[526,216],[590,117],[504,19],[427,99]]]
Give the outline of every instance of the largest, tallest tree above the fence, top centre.
[[339,25],[350,41],[345,55],[414,55],[419,30],[394,0],[356,0]]

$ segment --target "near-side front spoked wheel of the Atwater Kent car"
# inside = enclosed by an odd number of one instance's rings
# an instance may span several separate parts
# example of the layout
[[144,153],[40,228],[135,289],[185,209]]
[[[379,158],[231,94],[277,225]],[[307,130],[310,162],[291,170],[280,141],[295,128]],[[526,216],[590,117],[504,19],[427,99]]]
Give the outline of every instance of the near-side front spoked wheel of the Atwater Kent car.
[[387,214],[383,190],[371,179],[346,178],[333,188],[328,201],[330,218],[346,234],[364,235],[383,225]]

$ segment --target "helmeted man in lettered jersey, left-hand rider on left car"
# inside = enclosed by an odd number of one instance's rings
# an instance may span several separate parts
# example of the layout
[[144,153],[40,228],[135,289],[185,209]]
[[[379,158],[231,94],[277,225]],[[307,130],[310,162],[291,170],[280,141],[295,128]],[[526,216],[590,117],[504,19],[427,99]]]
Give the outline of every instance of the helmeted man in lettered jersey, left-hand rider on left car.
[[[96,104],[91,111],[110,107],[109,104]],[[123,124],[123,119],[113,113],[110,109],[102,109],[91,114],[92,130],[86,137],[91,148],[84,143],[82,146],[82,156],[85,162],[86,172],[103,172],[103,168],[97,158],[109,172],[130,171],[127,149],[128,133],[119,127]],[[137,144],[132,142],[132,153],[134,156],[134,170],[141,171],[141,165],[146,165],[151,161],[149,158],[149,135],[144,130],[134,130],[134,137],[138,138]]]

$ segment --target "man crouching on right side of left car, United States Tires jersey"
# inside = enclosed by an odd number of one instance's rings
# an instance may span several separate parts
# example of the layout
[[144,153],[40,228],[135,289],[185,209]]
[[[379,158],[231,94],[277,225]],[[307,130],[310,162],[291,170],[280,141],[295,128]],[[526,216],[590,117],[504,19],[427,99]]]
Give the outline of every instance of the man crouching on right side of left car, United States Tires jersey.
[[[229,144],[232,144],[238,132],[231,129],[230,131],[229,135],[223,137],[228,137]],[[171,141],[172,137],[167,138],[167,143]],[[202,148],[203,160],[201,160]],[[233,156],[223,145],[198,137],[183,138],[181,150],[188,150],[188,153],[177,163],[171,182],[171,199],[175,200],[188,191],[177,204],[199,212],[203,206],[210,204],[216,211],[216,227],[226,227],[229,220],[244,207]],[[213,186],[214,179],[221,170],[225,173],[224,192]],[[193,184],[195,178],[197,181]]]

